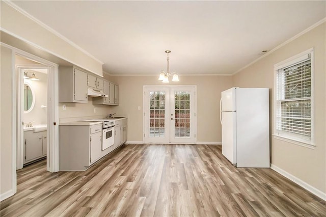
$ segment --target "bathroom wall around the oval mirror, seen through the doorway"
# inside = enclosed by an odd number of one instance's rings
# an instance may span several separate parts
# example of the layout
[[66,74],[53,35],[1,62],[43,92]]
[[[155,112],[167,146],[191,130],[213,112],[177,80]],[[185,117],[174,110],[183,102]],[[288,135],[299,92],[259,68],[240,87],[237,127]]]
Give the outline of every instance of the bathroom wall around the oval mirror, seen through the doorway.
[[[35,76],[40,80],[34,81],[26,79],[25,82],[28,83],[31,89],[34,91],[35,105],[31,112],[23,113],[22,121],[24,123],[34,121],[33,125],[46,124],[47,108],[42,108],[41,105],[47,105],[47,74],[35,71],[33,72],[35,73]],[[28,75],[30,76],[32,73],[29,72]]]

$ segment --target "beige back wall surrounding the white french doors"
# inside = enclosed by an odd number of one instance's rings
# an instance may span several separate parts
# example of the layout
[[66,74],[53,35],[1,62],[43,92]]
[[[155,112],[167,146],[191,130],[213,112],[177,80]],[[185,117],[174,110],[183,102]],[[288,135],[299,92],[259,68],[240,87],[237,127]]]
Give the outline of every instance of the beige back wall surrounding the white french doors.
[[[111,113],[128,116],[128,141],[143,141],[143,86],[163,85],[157,76],[111,76],[119,84],[119,106]],[[231,76],[182,76],[169,85],[197,85],[197,142],[221,144],[220,98],[232,87]],[[141,106],[141,110],[138,110]]]

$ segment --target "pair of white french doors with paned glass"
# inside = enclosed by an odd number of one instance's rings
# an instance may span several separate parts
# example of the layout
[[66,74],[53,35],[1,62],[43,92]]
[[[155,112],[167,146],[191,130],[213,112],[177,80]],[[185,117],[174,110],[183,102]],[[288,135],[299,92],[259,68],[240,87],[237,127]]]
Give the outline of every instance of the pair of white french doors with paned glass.
[[195,143],[195,87],[145,87],[144,142]]

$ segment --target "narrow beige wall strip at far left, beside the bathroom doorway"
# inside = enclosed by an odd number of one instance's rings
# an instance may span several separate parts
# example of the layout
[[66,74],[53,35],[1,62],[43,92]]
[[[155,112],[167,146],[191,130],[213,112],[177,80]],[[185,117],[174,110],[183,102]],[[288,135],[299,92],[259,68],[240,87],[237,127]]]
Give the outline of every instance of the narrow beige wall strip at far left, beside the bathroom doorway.
[[[13,191],[12,186],[12,51],[1,46],[1,130],[0,130],[0,194],[4,197],[5,193]],[[12,192],[13,193],[13,192]]]

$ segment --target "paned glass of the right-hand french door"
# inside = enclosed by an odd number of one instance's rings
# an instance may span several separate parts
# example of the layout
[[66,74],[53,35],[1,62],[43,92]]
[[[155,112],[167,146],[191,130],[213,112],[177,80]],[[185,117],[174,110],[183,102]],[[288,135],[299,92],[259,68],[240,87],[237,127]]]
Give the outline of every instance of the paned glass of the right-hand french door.
[[190,137],[190,92],[175,91],[175,137],[189,138]]

